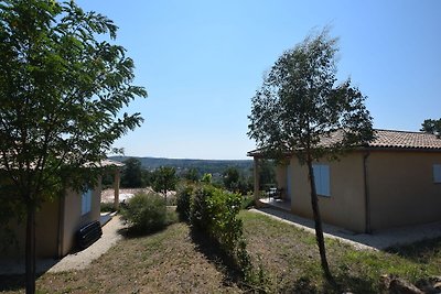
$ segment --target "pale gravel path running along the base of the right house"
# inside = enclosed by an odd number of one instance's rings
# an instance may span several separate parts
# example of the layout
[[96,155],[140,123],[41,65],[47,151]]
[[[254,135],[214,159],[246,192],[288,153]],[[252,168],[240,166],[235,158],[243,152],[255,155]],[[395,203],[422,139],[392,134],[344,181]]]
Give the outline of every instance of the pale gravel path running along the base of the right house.
[[[271,218],[315,233],[314,221],[311,219],[298,217],[288,211],[273,208],[251,209],[251,211],[265,214]],[[409,244],[424,239],[441,237],[441,221],[422,226],[381,230],[374,233],[354,233],[343,228],[323,224],[323,231],[325,237],[352,244],[356,249],[384,250],[397,244]]]

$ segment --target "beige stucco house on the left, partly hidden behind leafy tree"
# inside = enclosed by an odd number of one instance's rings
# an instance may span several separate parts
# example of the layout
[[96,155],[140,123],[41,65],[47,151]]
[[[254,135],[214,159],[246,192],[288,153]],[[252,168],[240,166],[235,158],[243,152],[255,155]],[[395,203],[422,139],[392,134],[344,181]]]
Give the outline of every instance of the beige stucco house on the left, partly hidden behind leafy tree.
[[[100,163],[105,172],[115,174],[115,200],[119,203],[120,162],[105,160]],[[58,259],[76,247],[76,232],[92,221],[100,219],[101,181],[84,193],[66,189],[54,202],[46,202],[35,216],[36,258]],[[24,258],[25,221],[10,221],[14,240],[0,252],[0,259]]]

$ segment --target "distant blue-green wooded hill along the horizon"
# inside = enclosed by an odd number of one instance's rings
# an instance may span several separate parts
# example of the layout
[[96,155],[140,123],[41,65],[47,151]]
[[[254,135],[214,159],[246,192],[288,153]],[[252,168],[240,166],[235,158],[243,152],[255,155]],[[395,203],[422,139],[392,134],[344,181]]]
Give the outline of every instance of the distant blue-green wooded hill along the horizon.
[[180,174],[190,168],[196,168],[198,174],[211,173],[222,174],[228,167],[235,167],[245,175],[252,173],[252,160],[174,160],[158,157],[137,157],[137,156],[110,156],[111,160],[123,162],[130,157],[138,159],[141,166],[152,171],[160,166],[173,166]]

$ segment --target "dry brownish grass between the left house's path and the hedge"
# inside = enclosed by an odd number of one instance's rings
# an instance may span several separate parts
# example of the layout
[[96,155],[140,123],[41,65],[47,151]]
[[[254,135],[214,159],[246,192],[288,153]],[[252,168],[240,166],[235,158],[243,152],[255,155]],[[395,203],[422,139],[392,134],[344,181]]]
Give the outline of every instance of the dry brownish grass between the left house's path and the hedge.
[[[196,250],[184,224],[125,239],[83,271],[45,273],[40,293],[238,293]],[[21,288],[19,292],[23,292]],[[17,292],[6,292],[17,293]]]

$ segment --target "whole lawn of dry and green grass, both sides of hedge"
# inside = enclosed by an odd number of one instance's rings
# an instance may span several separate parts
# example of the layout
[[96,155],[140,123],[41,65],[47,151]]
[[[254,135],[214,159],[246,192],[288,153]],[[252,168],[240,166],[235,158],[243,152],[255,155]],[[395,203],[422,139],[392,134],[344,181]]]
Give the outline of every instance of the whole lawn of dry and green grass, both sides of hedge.
[[[248,251],[269,293],[378,293],[381,274],[410,282],[441,275],[441,239],[389,252],[357,251],[326,240],[337,286],[321,275],[314,236],[250,211],[240,213]],[[24,292],[22,276],[0,277],[6,293]],[[150,236],[127,238],[84,271],[45,273],[40,293],[243,293],[241,284],[215,247],[174,224]]]

